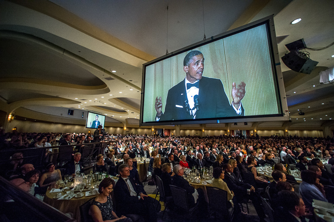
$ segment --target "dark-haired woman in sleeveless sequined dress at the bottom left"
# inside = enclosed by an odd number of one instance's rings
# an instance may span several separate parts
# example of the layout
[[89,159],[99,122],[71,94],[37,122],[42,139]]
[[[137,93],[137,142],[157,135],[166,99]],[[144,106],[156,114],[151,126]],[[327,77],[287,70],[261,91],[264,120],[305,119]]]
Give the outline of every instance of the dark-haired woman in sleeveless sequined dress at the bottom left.
[[131,222],[132,219],[126,216],[118,217],[113,211],[111,192],[115,186],[115,182],[111,178],[105,178],[99,185],[99,195],[93,200],[92,206],[89,209],[89,215],[94,221],[120,221]]

